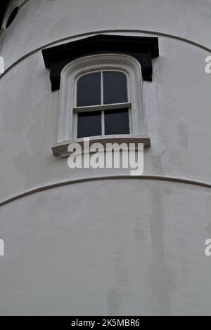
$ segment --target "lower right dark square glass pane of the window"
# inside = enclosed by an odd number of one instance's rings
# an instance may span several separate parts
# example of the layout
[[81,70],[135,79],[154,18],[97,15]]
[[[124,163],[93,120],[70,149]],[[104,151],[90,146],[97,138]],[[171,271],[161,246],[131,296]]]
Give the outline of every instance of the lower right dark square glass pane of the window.
[[128,110],[105,111],[105,134],[129,134]]

